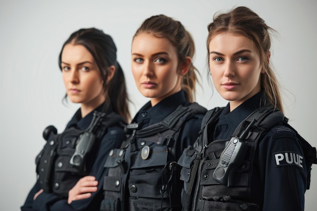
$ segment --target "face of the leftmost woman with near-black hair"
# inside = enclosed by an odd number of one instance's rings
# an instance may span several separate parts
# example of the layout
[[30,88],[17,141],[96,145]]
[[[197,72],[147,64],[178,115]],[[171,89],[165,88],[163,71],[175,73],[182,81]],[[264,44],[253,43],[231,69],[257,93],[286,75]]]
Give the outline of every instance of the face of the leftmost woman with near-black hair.
[[67,96],[73,103],[96,108],[105,101],[99,68],[84,46],[65,45],[61,65]]

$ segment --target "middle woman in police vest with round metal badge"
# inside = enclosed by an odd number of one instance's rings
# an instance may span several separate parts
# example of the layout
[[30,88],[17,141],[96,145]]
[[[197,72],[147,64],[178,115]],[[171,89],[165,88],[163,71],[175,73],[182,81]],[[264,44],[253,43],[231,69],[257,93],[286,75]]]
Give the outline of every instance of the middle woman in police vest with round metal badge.
[[130,137],[108,156],[101,210],[181,210],[176,161],[198,136],[207,111],[193,103],[193,55],[191,35],[170,17],[152,16],[136,31],[131,69],[150,101],[127,126]]

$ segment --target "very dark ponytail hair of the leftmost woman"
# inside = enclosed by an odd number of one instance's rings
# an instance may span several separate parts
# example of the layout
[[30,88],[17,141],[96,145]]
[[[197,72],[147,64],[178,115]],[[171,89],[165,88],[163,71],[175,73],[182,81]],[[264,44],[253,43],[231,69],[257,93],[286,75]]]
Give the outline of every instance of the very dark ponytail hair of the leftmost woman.
[[[80,29],[73,32],[65,41],[59,54],[59,68],[62,70],[62,52],[67,44],[82,45],[93,56],[101,77],[103,79],[103,91],[106,101],[110,102],[114,111],[129,121],[131,116],[128,107],[128,94],[123,70],[116,61],[116,47],[108,34],[96,28]],[[107,83],[108,67],[115,67],[112,79]]]

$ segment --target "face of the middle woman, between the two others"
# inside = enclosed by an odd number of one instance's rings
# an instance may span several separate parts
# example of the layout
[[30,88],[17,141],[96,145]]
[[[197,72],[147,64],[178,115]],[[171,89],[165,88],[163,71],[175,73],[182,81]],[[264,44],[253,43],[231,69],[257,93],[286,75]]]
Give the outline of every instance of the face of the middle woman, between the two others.
[[151,105],[181,90],[176,48],[167,38],[140,33],[132,43],[131,69],[136,85]]

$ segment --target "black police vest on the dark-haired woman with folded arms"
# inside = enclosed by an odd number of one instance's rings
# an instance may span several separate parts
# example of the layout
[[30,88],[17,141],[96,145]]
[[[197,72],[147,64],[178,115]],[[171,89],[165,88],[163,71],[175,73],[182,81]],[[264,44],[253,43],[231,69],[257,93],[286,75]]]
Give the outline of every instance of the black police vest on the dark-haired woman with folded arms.
[[93,119],[84,131],[69,128],[57,134],[54,126],[48,126],[43,132],[47,143],[35,159],[41,188],[67,197],[76,182],[89,173],[92,163],[87,161],[94,160],[94,154],[90,152],[97,149],[107,128],[118,122],[124,122],[118,114],[94,111]]

